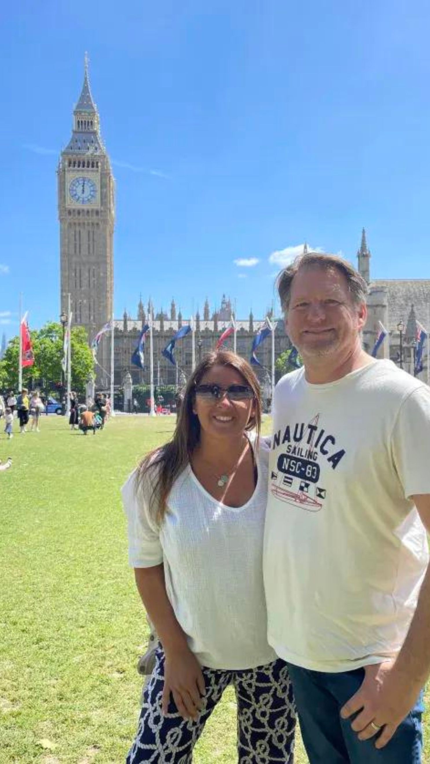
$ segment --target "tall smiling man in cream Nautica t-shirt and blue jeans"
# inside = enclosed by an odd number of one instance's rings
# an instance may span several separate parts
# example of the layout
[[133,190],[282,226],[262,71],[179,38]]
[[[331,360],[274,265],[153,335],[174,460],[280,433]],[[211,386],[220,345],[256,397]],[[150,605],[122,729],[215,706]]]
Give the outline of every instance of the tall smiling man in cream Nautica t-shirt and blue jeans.
[[304,367],[275,389],[265,593],[311,764],[418,764],[430,672],[430,390],[361,346],[366,283],[280,274]]

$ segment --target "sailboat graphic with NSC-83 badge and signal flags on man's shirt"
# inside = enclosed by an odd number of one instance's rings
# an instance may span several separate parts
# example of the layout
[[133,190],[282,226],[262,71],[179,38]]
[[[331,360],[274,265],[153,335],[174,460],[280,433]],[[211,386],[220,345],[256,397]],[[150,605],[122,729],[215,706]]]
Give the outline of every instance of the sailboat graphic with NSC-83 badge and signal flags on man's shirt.
[[[314,461],[314,435],[320,415],[314,416],[304,429],[298,442],[305,442],[305,458],[302,455],[280,454],[276,471],[272,470],[270,490],[273,496],[293,507],[308,512],[319,512],[323,507],[325,489],[317,485],[320,468]],[[311,430],[311,436],[308,435]],[[303,449],[301,449],[301,452]]]

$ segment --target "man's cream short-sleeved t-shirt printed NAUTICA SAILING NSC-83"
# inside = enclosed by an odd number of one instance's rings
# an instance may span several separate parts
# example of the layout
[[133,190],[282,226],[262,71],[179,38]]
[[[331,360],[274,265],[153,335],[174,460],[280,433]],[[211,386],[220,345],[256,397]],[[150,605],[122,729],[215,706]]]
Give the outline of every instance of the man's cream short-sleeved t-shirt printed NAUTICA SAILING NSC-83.
[[428,564],[430,389],[391,361],[275,389],[264,578],[269,643],[341,672],[399,651]]

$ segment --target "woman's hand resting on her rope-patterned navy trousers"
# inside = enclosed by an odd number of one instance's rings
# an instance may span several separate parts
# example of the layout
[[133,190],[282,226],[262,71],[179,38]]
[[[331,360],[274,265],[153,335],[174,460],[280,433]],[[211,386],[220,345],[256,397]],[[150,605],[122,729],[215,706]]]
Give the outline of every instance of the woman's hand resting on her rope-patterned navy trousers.
[[187,646],[165,652],[163,714],[168,713],[171,694],[181,717],[196,720],[206,689],[200,663]]

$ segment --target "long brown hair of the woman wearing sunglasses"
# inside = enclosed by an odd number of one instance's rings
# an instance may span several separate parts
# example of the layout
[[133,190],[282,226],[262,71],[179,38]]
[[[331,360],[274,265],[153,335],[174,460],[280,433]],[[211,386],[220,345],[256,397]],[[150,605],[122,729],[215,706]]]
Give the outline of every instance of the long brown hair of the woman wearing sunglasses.
[[148,479],[151,487],[149,510],[158,524],[161,524],[165,517],[168,495],[174,481],[187,468],[190,456],[200,442],[200,422],[193,411],[194,390],[200,384],[204,374],[213,366],[230,366],[242,375],[249,387],[252,387],[254,413],[249,417],[245,429],[256,429],[257,439],[259,438],[262,415],[261,390],[252,367],[245,358],[240,358],[239,355],[228,350],[208,353],[187,381],[173,438],[147,454],[138,466],[136,490],[137,492],[142,490],[144,481]]

